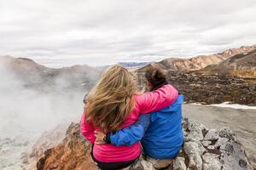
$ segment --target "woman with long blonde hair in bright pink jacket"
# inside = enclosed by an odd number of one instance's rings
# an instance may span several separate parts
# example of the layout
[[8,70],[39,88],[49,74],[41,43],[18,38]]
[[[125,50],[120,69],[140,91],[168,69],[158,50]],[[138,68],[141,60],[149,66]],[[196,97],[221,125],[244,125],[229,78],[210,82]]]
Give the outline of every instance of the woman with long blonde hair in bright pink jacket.
[[137,122],[140,114],[159,111],[177,99],[177,90],[164,85],[154,92],[138,94],[129,71],[113,65],[102,73],[90,91],[80,122],[81,133],[93,144],[92,159],[102,170],[130,166],[141,154],[139,142],[130,146],[97,144],[95,133],[111,133]]

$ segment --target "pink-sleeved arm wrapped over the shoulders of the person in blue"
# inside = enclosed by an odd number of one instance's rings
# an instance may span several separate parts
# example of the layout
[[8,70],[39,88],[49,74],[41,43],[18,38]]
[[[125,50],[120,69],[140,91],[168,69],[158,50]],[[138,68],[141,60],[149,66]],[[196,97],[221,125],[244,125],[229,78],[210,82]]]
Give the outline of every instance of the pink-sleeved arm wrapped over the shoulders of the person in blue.
[[141,113],[159,111],[177,99],[177,89],[166,84],[153,92],[147,92],[137,96],[137,105]]

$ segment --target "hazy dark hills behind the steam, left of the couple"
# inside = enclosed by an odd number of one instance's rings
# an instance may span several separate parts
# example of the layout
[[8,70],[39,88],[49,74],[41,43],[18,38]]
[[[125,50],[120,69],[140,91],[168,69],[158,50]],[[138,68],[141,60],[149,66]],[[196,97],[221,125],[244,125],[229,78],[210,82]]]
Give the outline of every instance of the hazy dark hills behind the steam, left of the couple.
[[0,57],[0,66],[12,73],[25,87],[37,89],[91,88],[101,71],[88,65],[73,65],[60,69],[39,65],[32,59]]

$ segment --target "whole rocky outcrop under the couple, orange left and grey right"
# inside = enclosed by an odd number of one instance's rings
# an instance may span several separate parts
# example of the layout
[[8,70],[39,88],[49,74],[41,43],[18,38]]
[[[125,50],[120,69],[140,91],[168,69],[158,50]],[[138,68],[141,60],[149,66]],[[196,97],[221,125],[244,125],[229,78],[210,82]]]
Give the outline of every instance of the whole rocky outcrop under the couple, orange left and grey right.
[[[207,129],[201,123],[184,119],[183,132],[185,142],[176,158],[155,160],[143,155],[125,169],[253,170],[245,150],[229,127]],[[79,123],[72,123],[61,144],[45,150],[44,156],[38,158],[37,169],[97,169],[90,159],[90,147],[80,136]]]

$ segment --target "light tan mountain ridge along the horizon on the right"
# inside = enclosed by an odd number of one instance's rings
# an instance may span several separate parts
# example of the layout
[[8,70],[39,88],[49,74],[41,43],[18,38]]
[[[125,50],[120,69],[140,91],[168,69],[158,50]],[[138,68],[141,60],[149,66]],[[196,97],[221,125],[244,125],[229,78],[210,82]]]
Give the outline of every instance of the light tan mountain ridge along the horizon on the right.
[[171,71],[196,71],[201,70],[208,65],[217,65],[218,63],[224,61],[225,59],[229,59],[236,54],[248,53],[254,49],[256,49],[256,44],[253,46],[227,49],[220,54],[199,55],[190,59],[169,58],[160,62],[153,62],[144,66],[138,71],[146,71],[152,66],[158,66],[164,70]]

